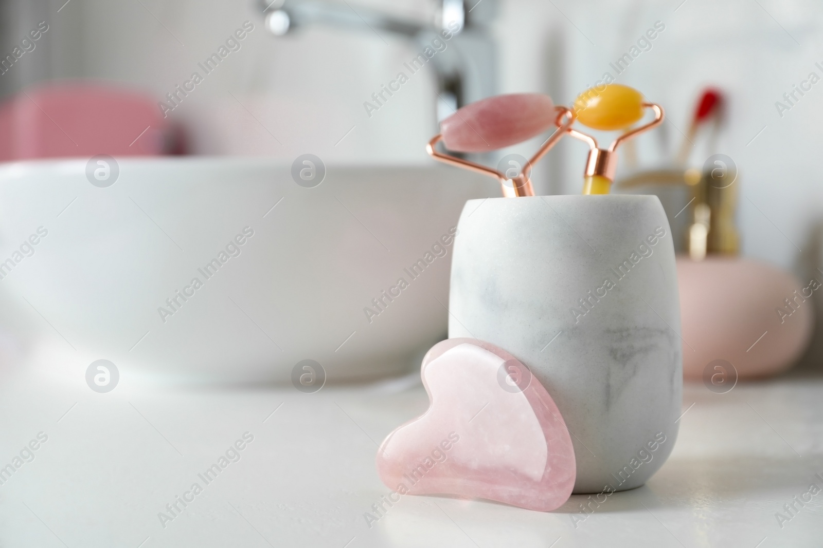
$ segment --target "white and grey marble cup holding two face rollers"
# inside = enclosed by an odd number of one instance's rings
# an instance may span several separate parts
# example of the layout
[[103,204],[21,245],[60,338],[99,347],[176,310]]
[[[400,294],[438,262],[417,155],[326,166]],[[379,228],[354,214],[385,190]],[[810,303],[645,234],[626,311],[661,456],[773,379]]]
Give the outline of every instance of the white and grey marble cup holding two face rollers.
[[680,333],[674,246],[657,196],[467,201],[449,338],[504,348],[540,380],[571,434],[574,493],[641,486],[671,453]]

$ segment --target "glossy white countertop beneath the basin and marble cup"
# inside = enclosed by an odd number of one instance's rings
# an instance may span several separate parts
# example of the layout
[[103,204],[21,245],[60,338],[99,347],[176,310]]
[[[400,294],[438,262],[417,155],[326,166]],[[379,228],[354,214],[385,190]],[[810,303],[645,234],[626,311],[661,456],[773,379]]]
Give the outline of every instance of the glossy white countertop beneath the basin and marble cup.
[[[406,495],[371,528],[363,514],[388,493],[374,470],[377,444],[427,407],[414,380],[316,394],[121,383],[96,394],[82,380],[0,374],[0,467],[48,435],[0,485],[4,548],[823,546],[823,492],[795,503],[783,527],[775,517],[811,483],[823,489],[821,371],[728,394],[687,384],[671,458],[577,527],[585,495],[551,513]],[[198,473],[244,432],[253,441],[239,461],[206,485]],[[158,513],[194,482],[202,492],[162,527]]]

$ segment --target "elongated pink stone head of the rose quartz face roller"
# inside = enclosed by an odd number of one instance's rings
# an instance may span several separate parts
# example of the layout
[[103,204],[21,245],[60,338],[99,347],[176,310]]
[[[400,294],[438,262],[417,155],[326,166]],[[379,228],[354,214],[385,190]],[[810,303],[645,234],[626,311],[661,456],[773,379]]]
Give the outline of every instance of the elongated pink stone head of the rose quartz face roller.
[[440,122],[440,133],[449,150],[491,152],[539,135],[555,118],[548,95],[497,95],[460,108]]

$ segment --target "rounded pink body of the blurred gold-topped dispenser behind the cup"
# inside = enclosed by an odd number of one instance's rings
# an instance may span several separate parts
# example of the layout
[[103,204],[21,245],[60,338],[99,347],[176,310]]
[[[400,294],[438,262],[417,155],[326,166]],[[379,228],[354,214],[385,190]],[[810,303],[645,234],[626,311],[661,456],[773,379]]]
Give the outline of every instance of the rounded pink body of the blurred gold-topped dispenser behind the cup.
[[756,260],[709,256],[678,258],[677,281],[686,379],[704,378],[718,359],[741,379],[776,375],[806,350],[814,325],[814,305],[806,301],[821,287],[816,280],[801,283]]

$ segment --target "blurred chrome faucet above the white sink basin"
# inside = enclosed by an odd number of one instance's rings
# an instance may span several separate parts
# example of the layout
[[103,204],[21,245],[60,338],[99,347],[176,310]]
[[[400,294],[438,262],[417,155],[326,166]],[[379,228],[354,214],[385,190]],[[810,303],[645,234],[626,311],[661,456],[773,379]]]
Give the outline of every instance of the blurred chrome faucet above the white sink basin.
[[[402,19],[351,2],[332,0],[259,0],[266,29],[282,36],[308,25],[332,25],[351,30],[400,35],[423,50],[439,32],[458,30],[448,48],[430,60],[437,82],[437,119],[442,120],[466,104],[495,94],[496,49],[488,24],[495,15],[496,0],[439,0],[435,21]],[[470,4],[467,7],[467,4]]]

